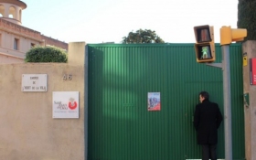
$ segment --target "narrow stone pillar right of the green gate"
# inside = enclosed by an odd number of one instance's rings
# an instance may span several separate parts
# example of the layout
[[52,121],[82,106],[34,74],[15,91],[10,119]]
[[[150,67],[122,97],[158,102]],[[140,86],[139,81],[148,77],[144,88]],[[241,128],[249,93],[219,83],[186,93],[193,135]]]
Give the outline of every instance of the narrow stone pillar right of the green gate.
[[246,160],[256,160],[256,85],[250,83],[249,60],[256,58],[256,40],[243,43],[242,54],[243,92],[249,95],[249,101],[244,102],[245,156]]

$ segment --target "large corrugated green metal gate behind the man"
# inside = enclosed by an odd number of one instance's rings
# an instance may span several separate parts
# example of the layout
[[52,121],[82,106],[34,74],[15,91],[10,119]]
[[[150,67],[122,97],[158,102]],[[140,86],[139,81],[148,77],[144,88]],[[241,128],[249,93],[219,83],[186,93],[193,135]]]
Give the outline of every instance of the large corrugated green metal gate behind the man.
[[[220,62],[219,45],[216,50]],[[233,157],[244,159],[241,46],[229,50]],[[221,69],[198,64],[193,44],[99,44],[88,45],[88,53],[89,160],[200,158],[193,113],[199,91],[208,91],[223,113]],[[148,92],[161,93],[161,111],[147,111]]]

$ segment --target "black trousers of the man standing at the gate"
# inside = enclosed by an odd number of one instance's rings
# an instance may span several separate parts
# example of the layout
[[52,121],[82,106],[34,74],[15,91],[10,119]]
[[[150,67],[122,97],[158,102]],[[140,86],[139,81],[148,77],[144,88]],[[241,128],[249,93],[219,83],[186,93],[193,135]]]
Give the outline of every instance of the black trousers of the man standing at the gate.
[[201,144],[202,160],[217,160],[216,146],[217,144]]

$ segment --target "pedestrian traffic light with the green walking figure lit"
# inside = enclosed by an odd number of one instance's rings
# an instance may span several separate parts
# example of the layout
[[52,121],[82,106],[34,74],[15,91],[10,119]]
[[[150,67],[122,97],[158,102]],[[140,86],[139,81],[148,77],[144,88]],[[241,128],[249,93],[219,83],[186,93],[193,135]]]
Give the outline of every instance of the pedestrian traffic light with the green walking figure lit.
[[215,45],[213,27],[208,25],[194,27],[197,43],[195,44],[198,63],[215,61]]

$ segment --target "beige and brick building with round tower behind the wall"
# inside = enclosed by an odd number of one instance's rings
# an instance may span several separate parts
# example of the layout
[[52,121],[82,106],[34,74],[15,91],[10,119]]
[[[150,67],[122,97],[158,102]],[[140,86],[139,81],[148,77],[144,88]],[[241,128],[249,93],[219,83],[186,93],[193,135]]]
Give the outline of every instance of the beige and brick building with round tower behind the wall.
[[27,5],[19,0],[0,0],[0,64],[23,63],[34,46],[55,46],[68,50],[68,44],[23,27],[22,11]]

